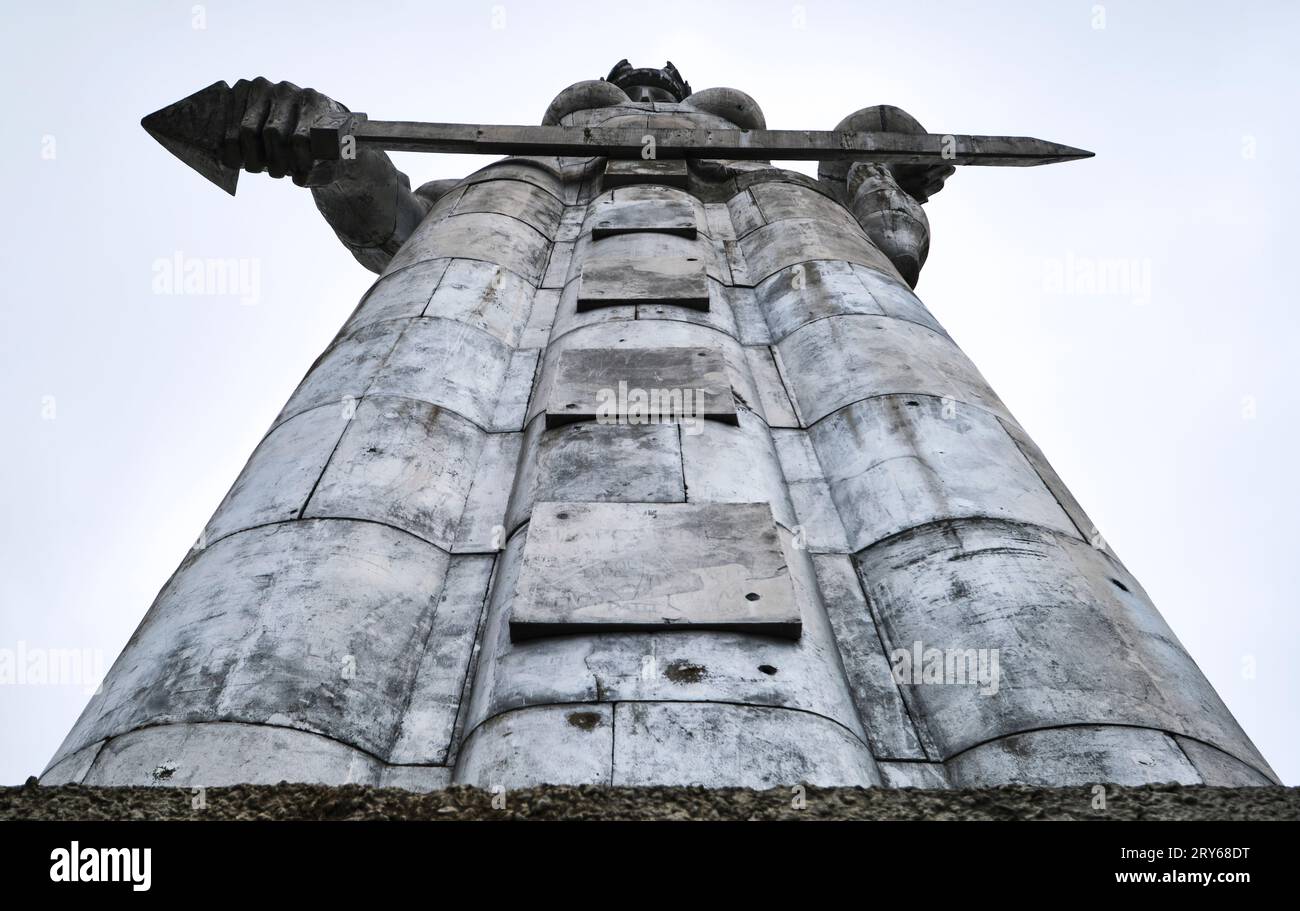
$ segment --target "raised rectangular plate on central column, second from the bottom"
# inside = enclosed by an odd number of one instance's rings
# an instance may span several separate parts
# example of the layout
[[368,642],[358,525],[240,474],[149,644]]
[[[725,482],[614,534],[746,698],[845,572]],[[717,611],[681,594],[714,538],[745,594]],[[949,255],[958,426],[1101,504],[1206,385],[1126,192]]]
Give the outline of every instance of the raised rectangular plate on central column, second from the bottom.
[[714,348],[568,348],[555,366],[546,425],[736,421]]

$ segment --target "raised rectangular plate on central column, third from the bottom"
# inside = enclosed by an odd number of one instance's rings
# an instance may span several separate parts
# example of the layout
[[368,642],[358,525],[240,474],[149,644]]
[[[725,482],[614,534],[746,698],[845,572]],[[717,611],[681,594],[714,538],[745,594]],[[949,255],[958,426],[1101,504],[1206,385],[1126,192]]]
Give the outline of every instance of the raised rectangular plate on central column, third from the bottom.
[[708,308],[708,276],[697,256],[599,259],[582,265],[577,309],[618,304]]

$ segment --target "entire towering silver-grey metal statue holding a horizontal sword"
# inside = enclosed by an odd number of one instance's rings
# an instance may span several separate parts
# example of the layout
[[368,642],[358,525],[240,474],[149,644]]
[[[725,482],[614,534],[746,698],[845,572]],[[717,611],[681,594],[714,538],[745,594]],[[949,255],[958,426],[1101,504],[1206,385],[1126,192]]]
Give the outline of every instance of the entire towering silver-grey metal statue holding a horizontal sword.
[[[540,127],[346,113],[254,79],[147,122],[378,279],[46,784],[1277,782],[914,294],[953,164],[1072,151],[774,131],[625,64]],[[447,142],[510,157],[412,190],[374,146]]]

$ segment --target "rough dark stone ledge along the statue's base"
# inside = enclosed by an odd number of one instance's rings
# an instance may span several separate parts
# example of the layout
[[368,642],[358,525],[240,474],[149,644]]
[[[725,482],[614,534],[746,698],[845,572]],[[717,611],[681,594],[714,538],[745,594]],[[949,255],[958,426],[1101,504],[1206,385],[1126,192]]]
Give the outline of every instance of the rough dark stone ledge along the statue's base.
[[[209,788],[191,808],[187,788],[0,788],[0,820],[1295,820],[1300,788],[1091,786],[896,790],[809,788],[803,810],[788,788],[541,786],[493,794],[448,788],[417,794],[365,785]],[[498,801],[499,803],[499,801]]]

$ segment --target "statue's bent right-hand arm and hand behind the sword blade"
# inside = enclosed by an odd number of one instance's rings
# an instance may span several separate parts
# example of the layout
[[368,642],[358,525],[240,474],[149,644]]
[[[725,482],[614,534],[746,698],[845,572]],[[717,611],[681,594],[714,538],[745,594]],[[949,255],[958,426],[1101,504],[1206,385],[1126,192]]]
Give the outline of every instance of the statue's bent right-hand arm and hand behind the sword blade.
[[[836,130],[924,133],[907,112],[876,105],[854,112]],[[867,161],[823,162],[818,177],[831,186],[911,287],[930,253],[930,220],[922,203],[944,188],[952,165],[881,165]]]

